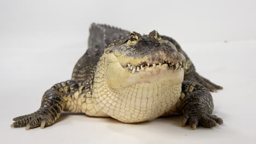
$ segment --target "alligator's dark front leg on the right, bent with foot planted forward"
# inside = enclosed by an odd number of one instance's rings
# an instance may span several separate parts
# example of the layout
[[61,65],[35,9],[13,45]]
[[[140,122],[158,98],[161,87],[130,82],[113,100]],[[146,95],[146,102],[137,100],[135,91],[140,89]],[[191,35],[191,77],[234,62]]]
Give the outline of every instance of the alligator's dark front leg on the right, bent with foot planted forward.
[[212,95],[207,89],[196,82],[183,81],[179,110],[183,113],[182,126],[188,123],[191,128],[197,125],[206,128],[218,127],[223,120],[211,115],[213,111]]

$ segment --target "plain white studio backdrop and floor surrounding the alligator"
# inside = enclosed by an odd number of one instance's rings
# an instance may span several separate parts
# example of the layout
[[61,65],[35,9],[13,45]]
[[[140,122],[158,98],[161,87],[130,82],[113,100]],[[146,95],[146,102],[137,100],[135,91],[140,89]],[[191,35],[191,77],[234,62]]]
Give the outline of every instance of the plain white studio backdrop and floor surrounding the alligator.
[[[0,1],[0,141],[3,143],[253,143],[256,140],[255,1]],[[197,71],[224,87],[212,93],[218,128],[191,130],[181,117],[124,124],[65,113],[52,127],[14,129],[44,91],[70,79],[90,23],[176,39]],[[1,142],[2,143],[2,142]]]

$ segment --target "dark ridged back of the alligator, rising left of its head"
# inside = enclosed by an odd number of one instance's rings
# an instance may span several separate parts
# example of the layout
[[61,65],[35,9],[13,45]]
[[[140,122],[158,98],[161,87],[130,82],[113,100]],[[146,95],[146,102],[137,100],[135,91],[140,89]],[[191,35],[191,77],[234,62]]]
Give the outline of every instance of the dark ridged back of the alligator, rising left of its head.
[[90,35],[88,39],[88,49],[84,55],[78,60],[73,69],[72,80],[84,80],[92,83],[97,62],[102,56],[104,49],[118,40],[130,34],[129,31],[108,25],[100,25],[92,23],[90,27]]

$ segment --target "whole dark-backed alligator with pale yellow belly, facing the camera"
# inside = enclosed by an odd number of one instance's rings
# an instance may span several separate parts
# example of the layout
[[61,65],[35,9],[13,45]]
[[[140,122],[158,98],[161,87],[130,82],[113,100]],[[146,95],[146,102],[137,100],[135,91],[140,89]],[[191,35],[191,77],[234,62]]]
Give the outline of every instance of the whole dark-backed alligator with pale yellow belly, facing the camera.
[[62,111],[124,123],[179,112],[183,126],[211,128],[223,121],[211,115],[213,100],[207,89],[222,87],[197,74],[174,39],[156,31],[141,35],[93,23],[88,50],[75,65],[72,80],[51,87],[38,111],[14,118],[11,126],[44,128],[54,124]]

